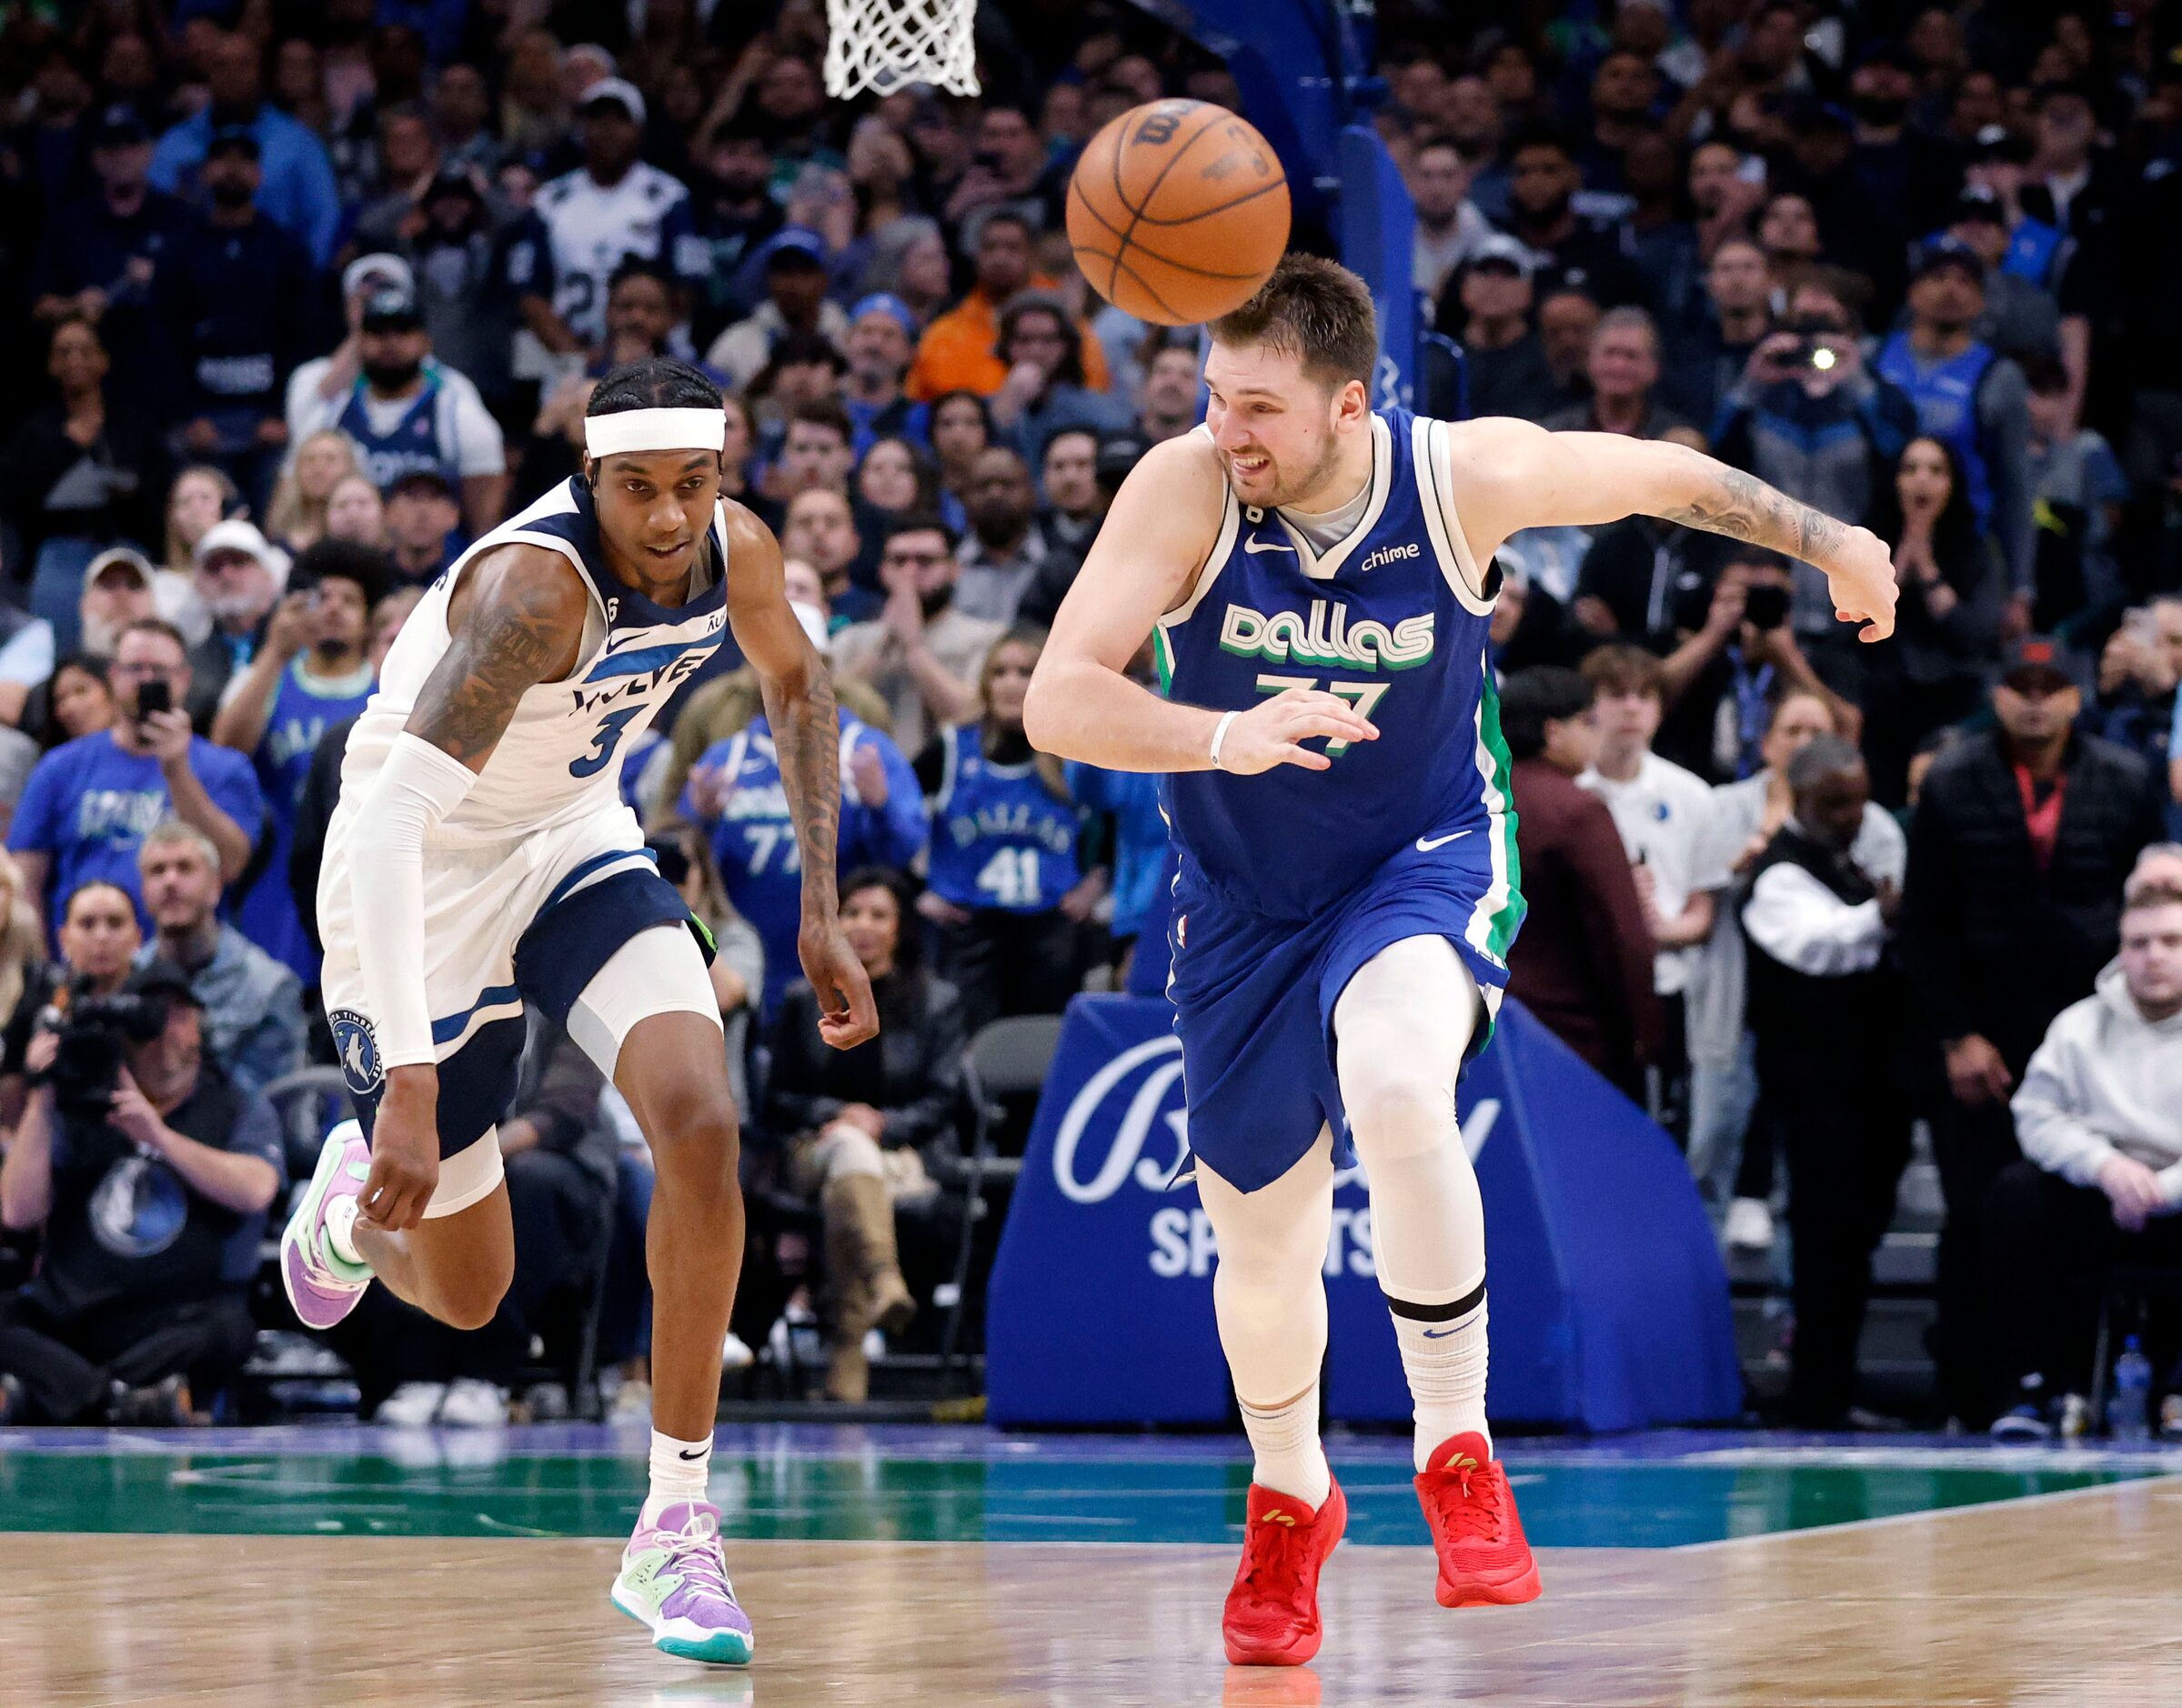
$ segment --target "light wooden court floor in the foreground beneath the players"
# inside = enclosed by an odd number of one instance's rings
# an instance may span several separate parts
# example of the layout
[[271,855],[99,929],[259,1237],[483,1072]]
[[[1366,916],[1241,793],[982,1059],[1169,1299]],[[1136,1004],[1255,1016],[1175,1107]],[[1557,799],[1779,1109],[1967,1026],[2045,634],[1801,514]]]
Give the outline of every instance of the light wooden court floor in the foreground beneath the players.
[[[0,1514],[0,1531],[7,1518]],[[618,1544],[0,1533],[4,1704],[2182,1704],[2182,1477],[1682,1549],[1551,1549],[1444,1612],[1344,1547],[1327,1647],[1228,1669],[1226,1547],[738,1542],[757,1664],[655,1653]]]

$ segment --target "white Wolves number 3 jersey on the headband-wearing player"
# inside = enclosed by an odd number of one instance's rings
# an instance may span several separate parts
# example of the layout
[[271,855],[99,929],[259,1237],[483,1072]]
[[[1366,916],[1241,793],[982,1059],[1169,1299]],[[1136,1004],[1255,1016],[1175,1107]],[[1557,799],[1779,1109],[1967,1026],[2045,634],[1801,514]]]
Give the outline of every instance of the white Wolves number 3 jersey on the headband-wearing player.
[[386,654],[377,691],[349,733],[340,766],[343,811],[371,787],[380,761],[417,709],[417,696],[452,646],[447,602],[463,572],[502,545],[537,545],[576,565],[591,593],[583,646],[567,676],[539,683],[515,702],[515,718],[476,787],[425,838],[428,851],[506,842],[600,809],[620,809],[622,744],[650,729],[674,689],[720,646],[727,626],[727,532],[718,506],[711,550],[700,556],[711,580],[687,604],[663,606],[607,567],[591,493],[576,478],[563,480],[463,552],[425,589]]

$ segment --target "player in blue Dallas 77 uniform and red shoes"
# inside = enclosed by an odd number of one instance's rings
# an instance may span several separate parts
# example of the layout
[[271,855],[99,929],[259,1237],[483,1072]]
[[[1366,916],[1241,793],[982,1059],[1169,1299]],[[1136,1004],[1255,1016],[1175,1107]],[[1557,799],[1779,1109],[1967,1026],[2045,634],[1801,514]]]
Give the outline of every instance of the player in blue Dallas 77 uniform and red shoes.
[[[1353,273],[1290,255],[1213,323],[1207,421],[1124,482],[1032,678],[1030,739],[1167,774],[1170,995],[1255,1475],[1239,1664],[1318,1651],[1346,1503],[1318,1444],[1320,1265],[1353,1143],[1447,1608],[1538,1571],[1486,1429],[1484,1211],[1455,1130],[1523,921],[1486,630],[1521,528],[1654,515],[1818,565],[1894,626],[1887,548],[1700,452],[1372,410]],[[1154,637],[1163,694],[1128,678]]]

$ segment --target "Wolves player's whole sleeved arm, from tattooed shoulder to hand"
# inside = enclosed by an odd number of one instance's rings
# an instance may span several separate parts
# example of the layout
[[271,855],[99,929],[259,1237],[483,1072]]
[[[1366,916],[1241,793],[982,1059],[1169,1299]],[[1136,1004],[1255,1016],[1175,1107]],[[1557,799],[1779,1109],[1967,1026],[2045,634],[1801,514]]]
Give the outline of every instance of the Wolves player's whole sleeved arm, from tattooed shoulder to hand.
[[417,1226],[439,1184],[439,1056],[423,988],[423,838],[476,783],[524,691],[576,667],[585,604],[576,569],[537,545],[508,545],[467,569],[447,613],[447,652],[360,803],[349,840],[349,905],[373,1045],[386,1073],[360,1228]]

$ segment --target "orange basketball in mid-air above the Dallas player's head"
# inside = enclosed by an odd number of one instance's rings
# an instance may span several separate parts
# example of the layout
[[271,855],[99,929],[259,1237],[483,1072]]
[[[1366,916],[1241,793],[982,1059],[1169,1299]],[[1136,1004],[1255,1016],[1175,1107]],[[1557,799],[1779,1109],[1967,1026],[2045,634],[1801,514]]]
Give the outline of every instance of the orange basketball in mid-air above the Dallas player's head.
[[1069,179],[1069,246],[1124,314],[1185,327],[1242,308],[1287,249],[1287,175],[1257,127],[1209,100],[1106,124]]

